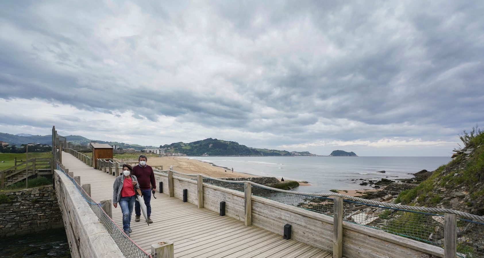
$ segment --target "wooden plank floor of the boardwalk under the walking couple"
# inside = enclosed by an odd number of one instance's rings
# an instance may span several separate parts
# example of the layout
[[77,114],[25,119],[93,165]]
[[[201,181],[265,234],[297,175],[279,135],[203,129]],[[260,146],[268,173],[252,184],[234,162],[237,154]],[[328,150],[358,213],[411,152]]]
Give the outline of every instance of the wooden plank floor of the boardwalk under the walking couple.
[[[112,199],[114,176],[84,164],[69,153],[62,152],[62,163],[81,177],[82,184],[91,184],[94,201]],[[174,243],[175,257],[179,258],[330,258],[332,254],[256,226],[245,226],[242,221],[220,216],[197,205],[156,193],[151,198],[151,219],[131,221],[131,239],[146,252],[160,240]],[[113,220],[122,228],[121,208],[113,207]]]

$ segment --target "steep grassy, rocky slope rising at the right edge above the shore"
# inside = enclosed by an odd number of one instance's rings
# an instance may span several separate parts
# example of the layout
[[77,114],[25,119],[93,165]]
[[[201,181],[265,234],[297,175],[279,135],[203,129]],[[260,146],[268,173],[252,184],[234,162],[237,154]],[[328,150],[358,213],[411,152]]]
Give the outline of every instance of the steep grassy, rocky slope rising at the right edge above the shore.
[[484,130],[464,131],[460,138],[465,147],[454,150],[453,160],[417,187],[401,192],[395,203],[484,215]]

